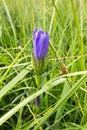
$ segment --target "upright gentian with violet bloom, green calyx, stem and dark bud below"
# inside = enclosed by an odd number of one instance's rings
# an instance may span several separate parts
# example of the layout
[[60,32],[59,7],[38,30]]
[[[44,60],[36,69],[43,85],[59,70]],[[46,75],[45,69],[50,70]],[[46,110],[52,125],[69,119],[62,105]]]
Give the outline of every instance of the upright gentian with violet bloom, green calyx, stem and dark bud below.
[[[41,75],[46,70],[47,60],[45,60],[49,46],[49,34],[42,30],[36,29],[33,32],[33,54],[32,65],[36,73],[37,89],[41,88]],[[40,96],[36,97],[35,105],[40,106]]]

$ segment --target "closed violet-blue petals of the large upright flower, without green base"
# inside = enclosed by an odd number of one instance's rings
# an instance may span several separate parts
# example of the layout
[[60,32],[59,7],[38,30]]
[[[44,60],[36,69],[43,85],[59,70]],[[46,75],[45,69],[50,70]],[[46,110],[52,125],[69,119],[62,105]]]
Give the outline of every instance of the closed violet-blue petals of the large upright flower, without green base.
[[37,60],[45,59],[48,52],[49,35],[48,32],[36,29],[33,33],[34,57]]

